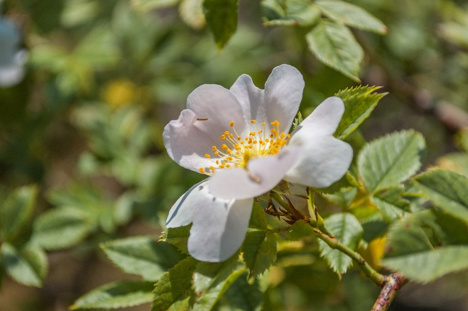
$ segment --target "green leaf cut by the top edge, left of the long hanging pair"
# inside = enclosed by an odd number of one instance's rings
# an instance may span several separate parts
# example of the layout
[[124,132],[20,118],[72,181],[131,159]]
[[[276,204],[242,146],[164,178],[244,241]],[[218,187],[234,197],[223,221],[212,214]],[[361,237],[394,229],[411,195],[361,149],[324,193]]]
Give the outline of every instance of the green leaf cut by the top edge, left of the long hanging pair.
[[312,25],[321,14],[310,0],[262,0],[265,26]]

